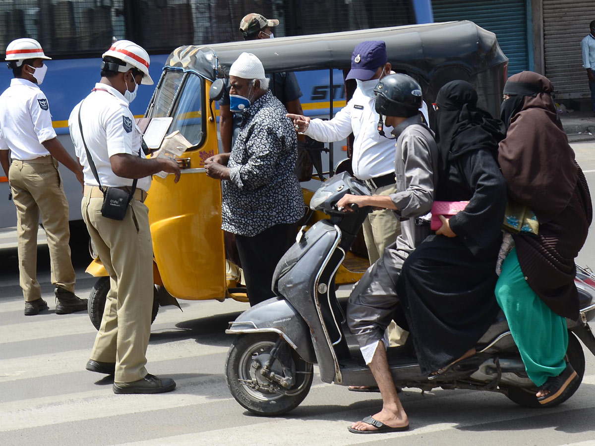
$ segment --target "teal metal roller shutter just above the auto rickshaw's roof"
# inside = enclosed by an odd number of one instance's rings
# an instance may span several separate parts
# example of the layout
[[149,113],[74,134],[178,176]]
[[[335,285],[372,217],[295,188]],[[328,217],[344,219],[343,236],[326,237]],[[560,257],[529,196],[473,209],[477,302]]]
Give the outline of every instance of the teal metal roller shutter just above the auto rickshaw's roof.
[[525,0],[433,0],[434,21],[471,20],[496,34],[509,58],[508,76],[528,70]]

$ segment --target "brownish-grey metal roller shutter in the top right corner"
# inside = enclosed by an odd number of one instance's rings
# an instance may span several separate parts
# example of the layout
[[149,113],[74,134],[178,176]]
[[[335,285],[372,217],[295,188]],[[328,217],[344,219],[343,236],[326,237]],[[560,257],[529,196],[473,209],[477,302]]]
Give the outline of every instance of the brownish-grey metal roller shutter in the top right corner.
[[590,98],[581,40],[591,20],[595,20],[593,1],[543,0],[545,74],[554,84],[556,98]]

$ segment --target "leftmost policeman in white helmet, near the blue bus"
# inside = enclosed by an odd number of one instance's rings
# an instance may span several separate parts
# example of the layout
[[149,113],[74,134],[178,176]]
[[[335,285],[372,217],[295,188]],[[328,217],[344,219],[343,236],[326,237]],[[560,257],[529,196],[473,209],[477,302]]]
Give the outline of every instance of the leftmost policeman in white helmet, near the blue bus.
[[48,309],[37,282],[40,216],[52,260],[56,313],[64,315],[87,309],[87,299],[74,294],[76,277],[68,246],[68,202],[58,162],[74,172],[81,184],[83,172],[58,141],[52,127],[48,98],[39,89],[48,68],[43,64],[44,59],[50,58],[37,40],[13,40],[6,50],[6,60],[14,79],[0,96],[0,162],[17,208],[18,271],[26,316]]

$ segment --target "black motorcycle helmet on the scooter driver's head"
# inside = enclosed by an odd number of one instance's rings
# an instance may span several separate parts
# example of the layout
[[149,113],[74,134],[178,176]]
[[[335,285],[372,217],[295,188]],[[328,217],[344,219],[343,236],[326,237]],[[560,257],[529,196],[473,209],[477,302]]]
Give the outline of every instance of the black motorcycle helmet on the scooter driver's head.
[[374,87],[379,115],[409,118],[421,107],[421,86],[406,74],[389,74]]

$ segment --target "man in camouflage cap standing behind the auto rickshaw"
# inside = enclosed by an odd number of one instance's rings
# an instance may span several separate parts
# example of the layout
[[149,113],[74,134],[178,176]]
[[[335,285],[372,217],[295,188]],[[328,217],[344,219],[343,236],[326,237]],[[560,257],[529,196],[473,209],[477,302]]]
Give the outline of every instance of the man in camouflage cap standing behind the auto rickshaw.
[[[253,12],[246,15],[240,21],[240,32],[242,32],[244,40],[273,39],[273,30],[271,28],[278,24],[279,21],[276,19],[269,20],[261,14]],[[283,103],[287,112],[298,115],[303,114],[302,104],[299,100],[302,96],[302,91],[299,88],[295,74],[271,73],[267,74],[267,78],[270,80],[270,92]],[[239,133],[242,117],[240,115],[234,115],[230,111],[228,90],[226,90],[226,94],[219,102],[219,115],[223,152],[230,153],[233,142]],[[298,152],[300,152],[300,150],[303,150],[302,145],[305,144],[305,137],[299,135],[297,142]]]

